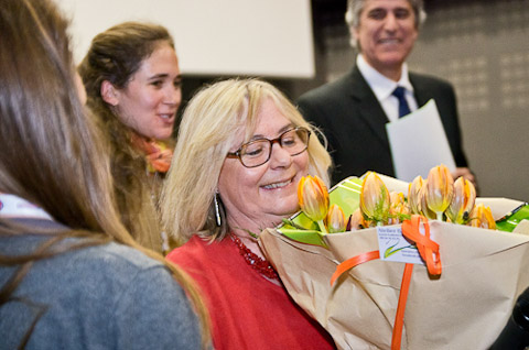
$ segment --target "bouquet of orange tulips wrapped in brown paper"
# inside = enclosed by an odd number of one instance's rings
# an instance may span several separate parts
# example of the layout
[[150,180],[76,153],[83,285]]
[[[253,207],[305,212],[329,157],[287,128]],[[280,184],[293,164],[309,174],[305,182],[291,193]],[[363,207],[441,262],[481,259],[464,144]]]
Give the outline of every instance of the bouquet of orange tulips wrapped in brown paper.
[[[529,286],[529,236],[487,230],[522,203],[476,198],[472,183],[454,182],[442,165],[410,184],[371,172],[331,190],[307,176],[298,189],[302,210],[262,231],[260,244],[339,349],[487,349]],[[435,274],[378,253],[380,232],[404,231],[418,215],[419,234],[428,229],[439,248]]]

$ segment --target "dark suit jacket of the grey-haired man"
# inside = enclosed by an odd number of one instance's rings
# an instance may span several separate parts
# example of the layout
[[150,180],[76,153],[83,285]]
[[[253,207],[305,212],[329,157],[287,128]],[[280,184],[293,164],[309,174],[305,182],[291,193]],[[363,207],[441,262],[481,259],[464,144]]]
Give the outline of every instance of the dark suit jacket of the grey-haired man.
[[[455,164],[466,167],[452,85],[424,75],[409,76],[419,107],[435,99]],[[298,103],[303,117],[327,138],[335,164],[333,184],[367,171],[395,177],[385,127],[389,120],[356,66],[338,80],[304,94]]]

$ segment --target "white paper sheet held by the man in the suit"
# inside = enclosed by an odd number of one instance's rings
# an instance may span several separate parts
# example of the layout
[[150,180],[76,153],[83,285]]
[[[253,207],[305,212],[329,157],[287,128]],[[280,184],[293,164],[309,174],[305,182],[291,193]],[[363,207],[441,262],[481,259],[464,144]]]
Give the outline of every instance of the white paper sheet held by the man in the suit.
[[453,172],[455,161],[431,99],[414,112],[386,124],[396,177],[411,182],[418,175],[428,177],[429,171],[440,164]]

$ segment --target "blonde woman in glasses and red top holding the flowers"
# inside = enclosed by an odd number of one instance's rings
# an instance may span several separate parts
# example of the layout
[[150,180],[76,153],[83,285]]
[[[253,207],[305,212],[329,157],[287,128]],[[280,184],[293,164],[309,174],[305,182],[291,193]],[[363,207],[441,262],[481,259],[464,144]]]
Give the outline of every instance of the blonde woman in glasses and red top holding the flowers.
[[331,157],[294,106],[270,84],[229,79],[187,105],[162,192],[168,259],[202,287],[215,349],[334,349],[290,298],[258,234],[299,210],[307,174],[328,184]]

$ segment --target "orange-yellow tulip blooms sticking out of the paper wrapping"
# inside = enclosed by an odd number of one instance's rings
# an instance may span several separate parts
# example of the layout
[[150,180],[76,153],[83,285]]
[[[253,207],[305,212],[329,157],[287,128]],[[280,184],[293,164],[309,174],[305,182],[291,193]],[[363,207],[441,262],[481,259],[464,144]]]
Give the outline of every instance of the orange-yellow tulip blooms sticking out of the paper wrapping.
[[[417,176],[409,184],[407,197],[389,192],[377,173],[368,172],[361,184],[359,207],[348,218],[338,205],[330,205],[327,188],[317,176],[301,179],[298,197],[303,214],[316,222],[323,233],[397,225],[413,214],[458,225],[496,228],[490,208],[475,205],[474,185],[464,177],[454,182],[444,165],[430,169],[428,179]],[[292,225],[289,220],[285,223]]]

